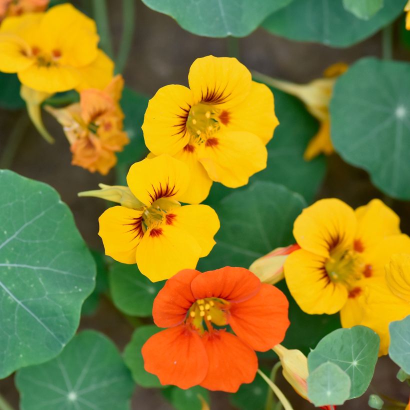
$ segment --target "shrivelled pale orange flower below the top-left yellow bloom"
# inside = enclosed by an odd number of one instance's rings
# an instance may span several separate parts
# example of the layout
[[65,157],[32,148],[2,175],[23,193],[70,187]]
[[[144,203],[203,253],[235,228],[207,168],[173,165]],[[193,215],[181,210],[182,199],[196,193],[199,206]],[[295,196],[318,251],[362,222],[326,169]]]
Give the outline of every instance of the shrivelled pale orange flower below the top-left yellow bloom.
[[104,90],[82,90],[79,103],[60,109],[45,107],[63,126],[73,165],[102,175],[115,165],[114,152],[122,151],[129,142],[122,130],[124,114],[119,106],[123,85],[122,76],[116,75]]

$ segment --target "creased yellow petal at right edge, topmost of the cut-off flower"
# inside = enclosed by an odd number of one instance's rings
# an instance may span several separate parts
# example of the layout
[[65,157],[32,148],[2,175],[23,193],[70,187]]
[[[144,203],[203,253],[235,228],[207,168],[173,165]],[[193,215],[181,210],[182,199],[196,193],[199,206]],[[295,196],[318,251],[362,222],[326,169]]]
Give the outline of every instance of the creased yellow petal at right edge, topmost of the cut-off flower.
[[391,292],[410,303],[410,254],[391,255],[385,269],[387,286]]

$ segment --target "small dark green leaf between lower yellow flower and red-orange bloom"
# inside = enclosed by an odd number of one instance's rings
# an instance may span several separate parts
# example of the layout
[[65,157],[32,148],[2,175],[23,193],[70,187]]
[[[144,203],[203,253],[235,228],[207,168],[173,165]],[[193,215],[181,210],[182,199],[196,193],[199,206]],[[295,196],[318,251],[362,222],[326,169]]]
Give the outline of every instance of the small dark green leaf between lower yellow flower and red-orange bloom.
[[112,301],[122,312],[132,316],[150,316],[152,303],[164,282],[151,282],[136,264],[114,262],[109,269]]

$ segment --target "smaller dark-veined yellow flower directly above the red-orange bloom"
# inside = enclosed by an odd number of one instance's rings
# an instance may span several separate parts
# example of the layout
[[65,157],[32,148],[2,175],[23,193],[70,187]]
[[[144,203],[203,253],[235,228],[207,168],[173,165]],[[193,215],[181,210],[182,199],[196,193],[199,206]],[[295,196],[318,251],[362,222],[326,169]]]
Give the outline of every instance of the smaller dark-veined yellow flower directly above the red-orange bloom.
[[[190,182],[186,164],[166,154],[146,158],[130,167],[126,180],[133,207],[113,206],[99,217],[105,253],[122,263],[136,262],[153,282],[193,269],[215,244],[219,219],[207,205],[178,202]],[[82,195],[104,197],[101,192]],[[131,206],[129,194],[126,198]]]

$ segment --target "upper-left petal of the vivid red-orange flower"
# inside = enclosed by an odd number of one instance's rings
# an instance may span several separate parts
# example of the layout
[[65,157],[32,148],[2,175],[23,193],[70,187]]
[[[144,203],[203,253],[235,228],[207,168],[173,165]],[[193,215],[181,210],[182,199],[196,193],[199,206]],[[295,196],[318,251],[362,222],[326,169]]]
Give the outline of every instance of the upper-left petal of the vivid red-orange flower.
[[195,269],[181,270],[159,290],[152,306],[152,316],[158,327],[171,327],[183,321],[195,301],[190,287],[192,279],[199,274]]

